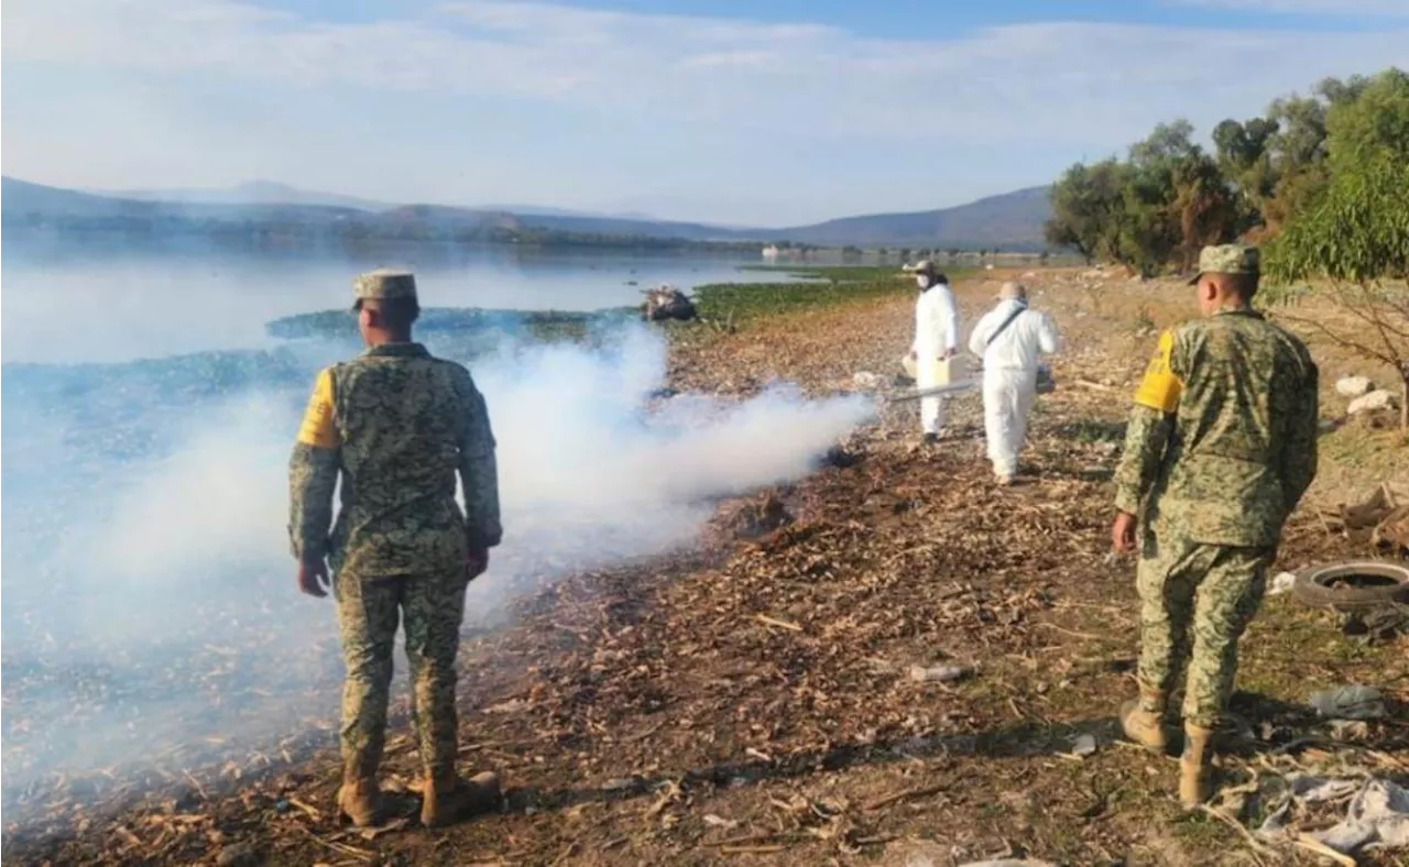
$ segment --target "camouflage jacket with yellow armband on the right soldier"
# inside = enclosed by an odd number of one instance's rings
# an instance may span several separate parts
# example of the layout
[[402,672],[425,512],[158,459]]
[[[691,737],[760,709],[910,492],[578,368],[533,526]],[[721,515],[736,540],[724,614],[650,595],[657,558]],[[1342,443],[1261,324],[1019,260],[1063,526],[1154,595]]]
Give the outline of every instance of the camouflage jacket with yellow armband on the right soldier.
[[1271,546],[1316,476],[1317,370],[1306,346],[1251,310],[1160,338],[1136,393],[1116,508],[1157,535]]

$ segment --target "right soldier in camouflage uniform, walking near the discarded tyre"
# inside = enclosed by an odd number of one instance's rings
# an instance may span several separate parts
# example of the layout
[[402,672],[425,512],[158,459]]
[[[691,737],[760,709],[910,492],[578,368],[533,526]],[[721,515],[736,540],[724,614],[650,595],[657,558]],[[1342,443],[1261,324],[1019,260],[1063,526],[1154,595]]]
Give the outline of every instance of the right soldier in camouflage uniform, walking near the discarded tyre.
[[1164,750],[1165,705],[1188,664],[1179,799],[1189,808],[1209,795],[1209,740],[1239,638],[1282,524],[1316,474],[1316,366],[1253,310],[1258,265],[1255,248],[1202,252],[1191,286],[1205,315],[1160,338],[1116,472],[1113,542],[1140,550],[1141,601],[1140,698],[1120,721],[1131,740]]

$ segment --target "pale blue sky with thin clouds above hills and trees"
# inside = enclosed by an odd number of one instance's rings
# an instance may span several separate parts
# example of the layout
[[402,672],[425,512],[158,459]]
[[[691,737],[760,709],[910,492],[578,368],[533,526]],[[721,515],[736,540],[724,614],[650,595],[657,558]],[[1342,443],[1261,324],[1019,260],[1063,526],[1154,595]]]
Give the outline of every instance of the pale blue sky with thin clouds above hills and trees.
[[1409,0],[0,0],[0,175],[750,227],[1409,66]]

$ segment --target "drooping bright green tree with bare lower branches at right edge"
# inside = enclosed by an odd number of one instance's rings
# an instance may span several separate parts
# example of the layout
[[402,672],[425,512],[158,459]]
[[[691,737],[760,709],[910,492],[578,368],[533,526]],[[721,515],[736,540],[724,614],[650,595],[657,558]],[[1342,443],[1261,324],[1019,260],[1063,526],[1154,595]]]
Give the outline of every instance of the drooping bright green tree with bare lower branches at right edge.
[[[1268,276],[1278,281],[1330,280],[1322,290],[1348,325],[1327,317],[1288,319],[1399,374],[1401,428],[1409,428],[1409,163],[1388,155],[1337,172],[1323,201],[1286,225],[1268,249]],[[1309,290],[1308,290],[1309,291]],[[1274,300],[1293,301],[1305,293]]]

